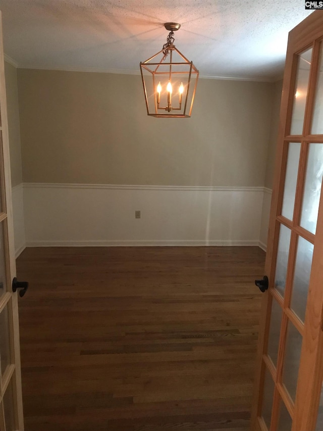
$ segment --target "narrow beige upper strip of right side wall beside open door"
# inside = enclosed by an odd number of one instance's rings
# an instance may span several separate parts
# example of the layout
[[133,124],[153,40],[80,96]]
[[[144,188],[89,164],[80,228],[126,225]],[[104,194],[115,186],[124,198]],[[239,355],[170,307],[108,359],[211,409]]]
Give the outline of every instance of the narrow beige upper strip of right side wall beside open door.
[[265,175],[265,181],[264,181],[264,186],[268,188],[273,188],[282,90],[283,90],[283,81],[281,80],[281,81],[275,82],[274,93],[273,93],[274,97],[273,97],[273,107],[272,107],[272,124],[271,124],[271,133],[270,133],[270,140],[269,140],[268,153],[267,153],[266,175]]

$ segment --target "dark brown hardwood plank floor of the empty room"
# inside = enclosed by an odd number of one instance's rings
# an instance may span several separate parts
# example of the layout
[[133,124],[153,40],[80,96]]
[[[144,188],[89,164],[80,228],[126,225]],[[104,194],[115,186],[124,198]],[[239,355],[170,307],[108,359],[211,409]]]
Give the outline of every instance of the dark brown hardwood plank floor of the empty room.
[[249,431],[263,265],[257,247],[26,249],[25,431]]

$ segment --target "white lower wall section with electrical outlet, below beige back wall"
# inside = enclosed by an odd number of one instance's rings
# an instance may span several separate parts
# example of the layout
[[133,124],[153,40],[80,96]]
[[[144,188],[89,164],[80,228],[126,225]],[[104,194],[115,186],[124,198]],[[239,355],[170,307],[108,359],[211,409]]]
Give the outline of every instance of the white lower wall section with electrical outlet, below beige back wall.
[[263,195],[263,187],[24,183],[26,245],[258,246]]

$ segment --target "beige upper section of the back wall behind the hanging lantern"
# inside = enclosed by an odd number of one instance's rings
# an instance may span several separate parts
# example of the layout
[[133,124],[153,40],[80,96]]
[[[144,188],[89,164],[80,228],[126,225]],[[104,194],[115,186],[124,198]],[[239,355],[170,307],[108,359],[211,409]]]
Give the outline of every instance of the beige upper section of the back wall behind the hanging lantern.
[[18,86],[24,182],[264,185],[274,84],[200,79],[190,119],[148,117],[140,76],[18,69]]

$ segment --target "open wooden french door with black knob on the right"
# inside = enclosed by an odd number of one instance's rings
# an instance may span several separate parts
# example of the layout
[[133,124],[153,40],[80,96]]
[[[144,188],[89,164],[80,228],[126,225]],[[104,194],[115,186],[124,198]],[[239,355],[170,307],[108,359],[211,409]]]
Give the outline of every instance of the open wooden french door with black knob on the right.
[[323,430],[323,11],[289,34],[252,431]]

